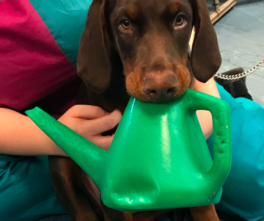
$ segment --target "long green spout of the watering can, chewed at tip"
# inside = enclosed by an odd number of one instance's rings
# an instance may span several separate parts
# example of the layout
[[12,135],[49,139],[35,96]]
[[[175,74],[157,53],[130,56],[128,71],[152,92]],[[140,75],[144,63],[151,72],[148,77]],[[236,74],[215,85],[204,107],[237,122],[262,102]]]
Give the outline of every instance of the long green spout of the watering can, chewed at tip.
[[97,184],[100,182],[106,151],[35,107],[26,111],[31,120],[70,156]]

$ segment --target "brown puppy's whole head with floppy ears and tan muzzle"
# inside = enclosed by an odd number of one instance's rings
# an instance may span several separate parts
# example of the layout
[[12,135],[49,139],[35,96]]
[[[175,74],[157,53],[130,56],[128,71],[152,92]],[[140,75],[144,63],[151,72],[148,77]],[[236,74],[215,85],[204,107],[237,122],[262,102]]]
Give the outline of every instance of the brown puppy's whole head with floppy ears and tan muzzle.
[[186,63],[193,26],[191,67],[197,80],[207,82],[219,69],[221,55],[205,0],[93,0],[78,74],[103,92],[113,67],[123,64],[126,90],[133,97],[154,102],[179,97],[190,85]]

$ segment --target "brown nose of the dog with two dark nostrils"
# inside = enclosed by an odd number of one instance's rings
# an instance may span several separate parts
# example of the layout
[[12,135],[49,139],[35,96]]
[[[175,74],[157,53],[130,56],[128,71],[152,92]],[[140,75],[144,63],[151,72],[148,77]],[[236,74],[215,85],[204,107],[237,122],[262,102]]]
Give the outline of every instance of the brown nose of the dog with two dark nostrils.
[[143,89],[152,101],[171,100],[178,89],[177,77],[175,74],[148,74]]

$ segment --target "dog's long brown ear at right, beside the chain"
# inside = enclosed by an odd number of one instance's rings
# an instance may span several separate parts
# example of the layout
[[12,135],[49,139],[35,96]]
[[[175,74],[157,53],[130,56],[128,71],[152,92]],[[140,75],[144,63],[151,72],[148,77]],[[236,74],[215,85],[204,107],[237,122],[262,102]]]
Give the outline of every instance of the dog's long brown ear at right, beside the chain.
[[194,77],[205,83],[218,71],[222,58],[206,1],[193,0],[192,3],[195,37],[191,67]]

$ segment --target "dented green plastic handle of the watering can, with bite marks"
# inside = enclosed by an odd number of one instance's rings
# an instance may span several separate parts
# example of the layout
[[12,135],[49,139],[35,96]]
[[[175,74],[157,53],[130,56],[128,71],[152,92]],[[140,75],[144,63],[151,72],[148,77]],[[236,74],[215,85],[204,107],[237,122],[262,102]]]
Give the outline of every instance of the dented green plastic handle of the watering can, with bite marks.
[[[227,102],[191,89],[186,91],[191,100],[190,111],[208,110],[213,118],[213,166],[210,169],[212,179],[227,178],[231,169],[231,113]],[[222,184],[223,184],[222,183]],[[220,188],[220,187],[219,187]]]

